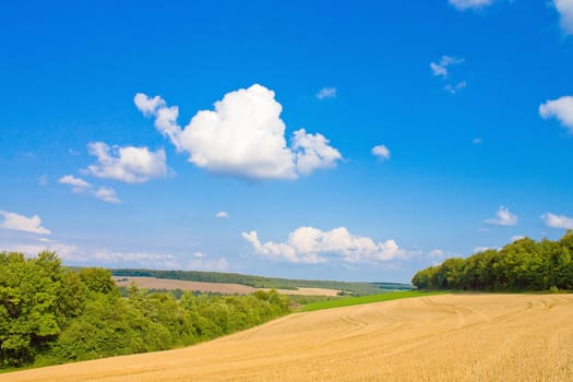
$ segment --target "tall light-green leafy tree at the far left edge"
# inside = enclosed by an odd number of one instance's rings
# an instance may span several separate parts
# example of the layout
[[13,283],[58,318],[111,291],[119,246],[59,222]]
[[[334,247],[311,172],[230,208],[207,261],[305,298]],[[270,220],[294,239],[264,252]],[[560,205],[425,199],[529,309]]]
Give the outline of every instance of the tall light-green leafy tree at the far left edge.
[[[0,366],[29,362],[77,314],[81,291],[53,252],[0,253]],[[67,287],[70,287],[68,294]]]

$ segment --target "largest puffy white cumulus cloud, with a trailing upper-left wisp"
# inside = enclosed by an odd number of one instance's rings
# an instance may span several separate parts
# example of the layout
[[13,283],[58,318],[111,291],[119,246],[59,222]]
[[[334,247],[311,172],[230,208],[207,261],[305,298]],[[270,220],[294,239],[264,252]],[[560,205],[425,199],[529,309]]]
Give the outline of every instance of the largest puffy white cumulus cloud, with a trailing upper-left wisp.
[[155,117],[156,129],[189,162],[213,172],[251,179],[295,179],[342,159],[322,134],[305,129],[294,133],[291,147],[285,139],[283,107],[275,93],[254,84],[227,93],[214,110],[201,110],[184,128],[177,123],[179,108],[167,107],[159,97],[139,93],[135,106]]

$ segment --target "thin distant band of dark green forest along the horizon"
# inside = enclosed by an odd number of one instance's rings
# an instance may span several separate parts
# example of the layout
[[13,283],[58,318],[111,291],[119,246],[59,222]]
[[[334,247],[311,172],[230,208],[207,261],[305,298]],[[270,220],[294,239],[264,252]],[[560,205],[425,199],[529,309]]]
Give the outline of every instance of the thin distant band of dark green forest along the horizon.
[[377,295],[384,290],[409,290],[411,285],[399,283],[347,283],[335,280],[289,279],[242,275],[238,273],[200,272],[200,271],[158,271],[158,270],[111,270],[114,276],[156,277],[183,279],[189,282],[229,283],[252,286],[254,288],[297,289],[327,288],[344,290],[348,295]]

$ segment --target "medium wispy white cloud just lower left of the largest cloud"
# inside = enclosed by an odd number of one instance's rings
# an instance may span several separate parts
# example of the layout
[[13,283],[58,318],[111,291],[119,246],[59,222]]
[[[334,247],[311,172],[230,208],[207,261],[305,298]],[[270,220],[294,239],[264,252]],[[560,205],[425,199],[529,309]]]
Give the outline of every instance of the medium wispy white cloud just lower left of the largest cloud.
[[91,155],[97,157],[97,164],[87,166],[84,172],[94,177],[143,183],[167,175],[164,150],[151,152],[147,147],[109,147],[104,142],[89,143],[88,150]]

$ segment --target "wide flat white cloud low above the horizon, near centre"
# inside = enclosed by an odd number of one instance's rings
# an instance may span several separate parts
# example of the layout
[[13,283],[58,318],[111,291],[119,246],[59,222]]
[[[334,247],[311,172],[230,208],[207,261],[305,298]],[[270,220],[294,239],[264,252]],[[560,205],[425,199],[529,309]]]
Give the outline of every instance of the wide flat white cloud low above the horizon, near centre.
[[300,227],[285,242],[261,242],[254,230],[242,232],[242,237],[254,254],[291,263],[325,263],[330,258],[341,258],[347,263],[391,261],[405,255],[394,240],[377,243],[369,237],[350,234],[345,227],[329,231]]

